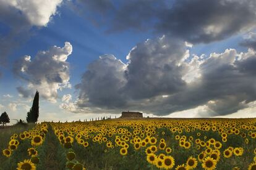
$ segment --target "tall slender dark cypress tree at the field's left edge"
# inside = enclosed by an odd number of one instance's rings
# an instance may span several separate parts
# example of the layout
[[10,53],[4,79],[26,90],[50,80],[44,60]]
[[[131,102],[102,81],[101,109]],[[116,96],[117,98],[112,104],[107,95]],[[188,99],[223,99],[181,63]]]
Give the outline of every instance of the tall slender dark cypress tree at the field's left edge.
[[30,111],[28,111],[27,113],[27,122],[36,123],[38,121],[38,116],[39,116],[39,92],[36,91],[32,108],[30,108]]

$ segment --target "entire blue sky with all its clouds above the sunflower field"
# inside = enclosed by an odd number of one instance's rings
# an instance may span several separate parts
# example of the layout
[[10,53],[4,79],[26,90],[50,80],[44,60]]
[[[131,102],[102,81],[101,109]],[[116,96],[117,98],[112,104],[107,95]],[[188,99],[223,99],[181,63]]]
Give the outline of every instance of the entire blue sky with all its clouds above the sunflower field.
[[256,116],[254,0],[0,0],[0,112]]

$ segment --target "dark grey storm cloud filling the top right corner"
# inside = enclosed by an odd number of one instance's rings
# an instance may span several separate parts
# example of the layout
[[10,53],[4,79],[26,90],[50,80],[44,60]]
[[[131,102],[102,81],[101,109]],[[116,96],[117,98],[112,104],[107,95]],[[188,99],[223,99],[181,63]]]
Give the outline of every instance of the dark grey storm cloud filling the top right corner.
[[189,42],[211,42],[255,26],[256,1],[179,0],[164,10],[156,30]]

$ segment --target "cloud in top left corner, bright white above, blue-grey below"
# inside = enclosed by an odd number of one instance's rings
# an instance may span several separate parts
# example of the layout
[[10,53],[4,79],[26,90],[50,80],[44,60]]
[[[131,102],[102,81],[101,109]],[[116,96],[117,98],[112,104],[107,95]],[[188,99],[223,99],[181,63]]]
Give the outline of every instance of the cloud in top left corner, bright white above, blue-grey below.
[[0,1],[0,22],[7,30],[0,34],[0,67],[6,66],[7,56],[22,42],[27,41],[33,32],[32,28],[46,26],[50,22],[61,2],[62,0]]

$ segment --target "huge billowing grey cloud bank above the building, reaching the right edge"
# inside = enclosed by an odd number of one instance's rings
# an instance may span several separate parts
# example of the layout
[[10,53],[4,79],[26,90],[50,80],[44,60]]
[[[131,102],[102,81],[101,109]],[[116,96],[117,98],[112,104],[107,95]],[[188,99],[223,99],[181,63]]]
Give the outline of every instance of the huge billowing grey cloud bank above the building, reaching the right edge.
[[90,107],[79,113],[138,110],[158,116],[198,108],[205,117],[235,113],[256,100],[252,49],[198,57],[189,54],[186,42],[163,36],[137,44],[127,59],[124,64],[105,55],[90,63],[75,86],[77,101],[64,106]]

